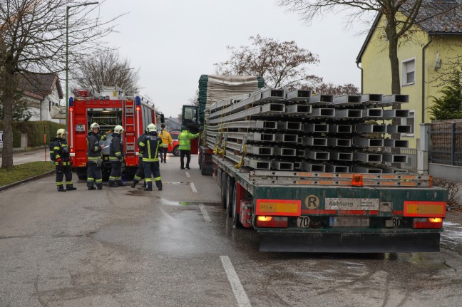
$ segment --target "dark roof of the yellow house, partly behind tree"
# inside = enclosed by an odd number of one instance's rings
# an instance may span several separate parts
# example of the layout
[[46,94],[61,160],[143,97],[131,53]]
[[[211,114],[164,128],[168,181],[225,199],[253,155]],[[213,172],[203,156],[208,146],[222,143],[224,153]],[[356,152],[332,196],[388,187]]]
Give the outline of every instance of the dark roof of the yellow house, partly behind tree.
[[[399,11],[408,15],[414,1],[406,1]],[[446,12],[451,13],[446,14]],[[361,63],[361,57],[366,46],[371,40],[382,13],[376,15],[369,33],[367,33],[363,46],[356,57],[356,63]],[[461,35],[462,36],[462,3],[461,0],[424,0],[422,1],[419,14],[416,16],[416,24],[429,35]]]

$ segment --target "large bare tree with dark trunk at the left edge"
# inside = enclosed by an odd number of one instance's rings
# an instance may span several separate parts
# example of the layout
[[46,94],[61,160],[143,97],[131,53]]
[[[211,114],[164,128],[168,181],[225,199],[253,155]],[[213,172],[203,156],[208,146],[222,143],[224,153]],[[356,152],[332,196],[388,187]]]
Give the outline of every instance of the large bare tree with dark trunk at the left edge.
[[82,4],[73,0],[0,0],[0,91],[4,107],[1,167],[13,166],[12,106],[19,74],[63,72],[66,46],[71,66],[84,54],[96,51],[101,38],[112,31],[112,21],[117,17],[103,21],[96,11],[98,6]]

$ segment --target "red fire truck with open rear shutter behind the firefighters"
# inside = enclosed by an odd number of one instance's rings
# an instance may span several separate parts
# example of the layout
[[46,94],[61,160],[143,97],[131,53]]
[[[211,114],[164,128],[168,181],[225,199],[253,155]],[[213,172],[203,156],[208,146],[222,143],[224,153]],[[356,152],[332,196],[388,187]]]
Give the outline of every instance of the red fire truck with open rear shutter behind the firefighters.
[[[104,88],[101,93],[94,95],[88,90],[76,90],[74,97],[69,98],[68,109],[68,142],[73,157],[73,170],[78,179],[86,179],[87,167],[87,134],[92,123],[100,125],[100,131],[105,132],[107,139],[100,141],[100,145],[107,145],[103,154],[103,177],[111,172],[109,162],[109,145],[111,144],[113,128],[122,125],[123,151],[125,152],[125,175],[133,177],[138,167],[138,147],[136,140],[143,134],[150,123],[155,125],[156,112],[153,103],[136,96],[126,97],[117,87]],[[163,123],[163,114],[160,121]]]

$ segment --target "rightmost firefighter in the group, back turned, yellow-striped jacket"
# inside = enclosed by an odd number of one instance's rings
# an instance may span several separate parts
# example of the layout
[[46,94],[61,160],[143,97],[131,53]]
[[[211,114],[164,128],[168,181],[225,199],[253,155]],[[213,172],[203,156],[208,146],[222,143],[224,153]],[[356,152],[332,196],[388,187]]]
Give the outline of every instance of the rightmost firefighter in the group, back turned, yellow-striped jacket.
[[145,180],[148,187],[145,191],[153,190],[153,176],[155,186],[162,191],[162,178],[159,170],[159,148],[162,146],[162,140],[158,137],[154,124],[149,124],[146,128],[148,134],[140,140],[140,154],[143,155],[143,167],[145,171]]

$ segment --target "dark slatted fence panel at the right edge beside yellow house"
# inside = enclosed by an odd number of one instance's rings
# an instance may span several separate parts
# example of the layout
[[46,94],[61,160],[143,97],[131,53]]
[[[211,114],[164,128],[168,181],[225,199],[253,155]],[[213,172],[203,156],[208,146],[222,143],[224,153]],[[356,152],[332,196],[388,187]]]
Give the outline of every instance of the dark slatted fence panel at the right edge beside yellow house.
[[438,120],[431,123],[431,163],[462,166],[462,120]]

